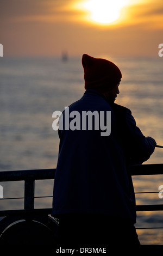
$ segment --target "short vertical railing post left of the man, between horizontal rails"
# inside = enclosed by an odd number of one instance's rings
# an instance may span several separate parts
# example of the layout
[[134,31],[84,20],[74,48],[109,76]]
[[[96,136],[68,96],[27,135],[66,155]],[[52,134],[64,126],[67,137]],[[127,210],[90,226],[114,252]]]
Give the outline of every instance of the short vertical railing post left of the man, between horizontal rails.
[[34,209],[35,181],[32,179],[25,180],[24,184],[24,209]]

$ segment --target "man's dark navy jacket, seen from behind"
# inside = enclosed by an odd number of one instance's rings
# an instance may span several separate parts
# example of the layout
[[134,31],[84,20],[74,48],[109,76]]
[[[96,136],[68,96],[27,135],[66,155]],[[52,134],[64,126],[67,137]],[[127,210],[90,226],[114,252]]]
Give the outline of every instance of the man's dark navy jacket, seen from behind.
[[[53,216],[108,214],[136,222],[135,195],[128,165],[146,161],[154,143],[142,135],[127,108],[109,105],[103,95],[86,90],[69,111],[111,112],[111,133],[61,130],[54,180]],[[65,113],[63,113],[65,117]]]

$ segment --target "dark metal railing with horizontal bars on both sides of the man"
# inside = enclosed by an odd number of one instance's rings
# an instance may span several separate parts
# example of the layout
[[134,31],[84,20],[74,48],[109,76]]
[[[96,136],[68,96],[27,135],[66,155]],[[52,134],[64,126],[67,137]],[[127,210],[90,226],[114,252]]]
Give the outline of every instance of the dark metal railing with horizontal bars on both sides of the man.
[[[15,214],[46,213],[51,214],[52,209],[34,209],[35,180],[54,179],[56,169],[34,169],[0,172],[0,182],[24,180],[24,209],[23,210],[2,210],[0,216]],[[132,176],[135,175],[158,175],[163,174],[163,164],[142,164],[130,167]],[[10,198],[15,199],[15,198]],[[3,199],[5,200],[5,198]],[[1,201],[1,199],[0,199]],[[136,205],[136,211],[162,211],[163,204]]]

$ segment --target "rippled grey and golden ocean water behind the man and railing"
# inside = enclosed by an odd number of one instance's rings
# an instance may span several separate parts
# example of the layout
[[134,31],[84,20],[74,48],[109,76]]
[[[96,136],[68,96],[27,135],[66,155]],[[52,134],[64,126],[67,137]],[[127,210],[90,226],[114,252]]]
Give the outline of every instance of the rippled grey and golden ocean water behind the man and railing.
[[[131,109],[145,136],[163,145],[163,58],[109,58],[122,71],[116,103]],[[52,113],[82,97],[84,78],[81,57],[0,59],[0,170],[55,168],[58,132]],[[156,148],[146,163],[163,163]],[[162,175],[133,178],[135,192],[155,191]],[[23,197],[23,182],[0,182],[4,198]],[[51,196],[53,181],[36,181],[35,196]],[[137,204],[162,204],[158,193],[136,194]],[[51,207],[52,198],[36,199],[35,208]],[[0,209],[23,209],[23,200],[1,200]],[[137,229],[142,244],[163,245],[161,212],[138,212]]]

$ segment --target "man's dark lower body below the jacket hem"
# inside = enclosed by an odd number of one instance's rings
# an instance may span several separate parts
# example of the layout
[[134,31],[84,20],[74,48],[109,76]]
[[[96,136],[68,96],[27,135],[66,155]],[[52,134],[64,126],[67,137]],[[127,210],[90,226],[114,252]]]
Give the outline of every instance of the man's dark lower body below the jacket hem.
[[65,248],[140,246],[133,223],[104,214],[62,215],[59,222],[59,244]]

